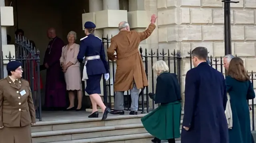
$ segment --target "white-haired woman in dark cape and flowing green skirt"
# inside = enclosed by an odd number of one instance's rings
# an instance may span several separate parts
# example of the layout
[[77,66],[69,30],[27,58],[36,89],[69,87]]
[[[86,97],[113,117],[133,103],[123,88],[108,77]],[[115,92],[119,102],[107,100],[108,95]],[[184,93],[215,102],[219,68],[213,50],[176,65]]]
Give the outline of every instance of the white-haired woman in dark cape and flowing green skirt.
[[155,137],[153,142],[160,143],[168,140],[175,143],[175,138],[180,137],[181,95],[177,75],[169,73],[169,68],[164,61],[157,61],[153,65],[158,74],[156,79],[156,93],[150,93],[150,98],[160,106],[141,121],[144,128]]

